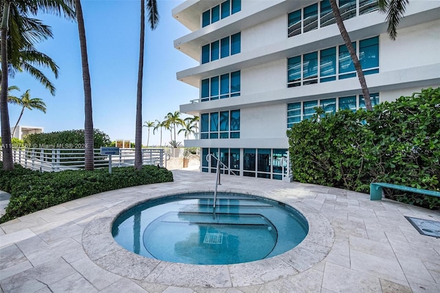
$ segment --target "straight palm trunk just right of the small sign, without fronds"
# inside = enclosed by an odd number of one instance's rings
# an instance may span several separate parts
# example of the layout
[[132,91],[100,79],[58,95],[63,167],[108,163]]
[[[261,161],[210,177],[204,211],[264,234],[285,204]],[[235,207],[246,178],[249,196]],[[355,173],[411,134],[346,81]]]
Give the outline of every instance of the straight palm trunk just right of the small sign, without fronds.
[[135,169],[142,169],[142,77],[144,75],[145,5],[140,0],[140,49],[137,71]]

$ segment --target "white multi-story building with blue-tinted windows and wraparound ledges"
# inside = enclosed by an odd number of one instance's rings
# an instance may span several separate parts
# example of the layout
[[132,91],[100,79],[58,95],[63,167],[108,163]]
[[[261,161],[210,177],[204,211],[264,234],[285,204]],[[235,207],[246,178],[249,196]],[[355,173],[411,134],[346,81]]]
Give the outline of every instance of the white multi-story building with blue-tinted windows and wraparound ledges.
[[[411,0],[397,39],[377,0],[339,0],[373,105],[440,85],[440,1]],[[214,154],[241,176],[289,178],[286,130],[320,106],[364,107],[328,0],[190,0],[173,16],[191,30],[175,47],[199,66],[177,79],[199,88],[180,111],[199,116],[201,171]],[[291,162],[295,164],[295,162]]]

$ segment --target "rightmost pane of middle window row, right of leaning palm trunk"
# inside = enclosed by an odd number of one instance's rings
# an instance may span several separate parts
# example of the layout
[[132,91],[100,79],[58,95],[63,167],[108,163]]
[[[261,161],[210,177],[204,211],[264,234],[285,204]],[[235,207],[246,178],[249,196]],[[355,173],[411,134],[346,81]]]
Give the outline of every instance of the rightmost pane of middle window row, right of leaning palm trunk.
[[359,59],[364,74],[379,72],[379,37],[359,42]]

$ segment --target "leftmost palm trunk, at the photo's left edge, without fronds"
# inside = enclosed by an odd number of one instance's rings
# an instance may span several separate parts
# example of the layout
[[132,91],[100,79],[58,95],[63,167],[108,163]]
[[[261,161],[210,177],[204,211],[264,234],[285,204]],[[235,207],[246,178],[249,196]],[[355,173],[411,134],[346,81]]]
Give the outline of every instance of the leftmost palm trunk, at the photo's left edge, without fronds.
[[3,18],[1,21],[1,91],[0,91],[0,113],[1,113],[1,149],[3,151],[3,170],[13,170],[11,129],[8,111],[8,21],[10,2],[4,1]]

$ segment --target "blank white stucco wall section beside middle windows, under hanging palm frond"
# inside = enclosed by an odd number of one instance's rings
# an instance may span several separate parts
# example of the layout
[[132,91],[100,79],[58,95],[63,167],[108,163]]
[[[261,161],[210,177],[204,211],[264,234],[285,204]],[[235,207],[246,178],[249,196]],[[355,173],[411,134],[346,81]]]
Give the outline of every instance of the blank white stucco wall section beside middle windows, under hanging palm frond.
[[397,30],[395,41],[381,34],[379,54],[381,72],[440,63],[440,20]]

